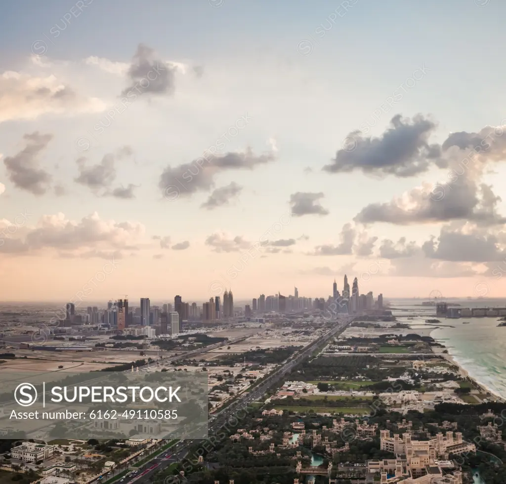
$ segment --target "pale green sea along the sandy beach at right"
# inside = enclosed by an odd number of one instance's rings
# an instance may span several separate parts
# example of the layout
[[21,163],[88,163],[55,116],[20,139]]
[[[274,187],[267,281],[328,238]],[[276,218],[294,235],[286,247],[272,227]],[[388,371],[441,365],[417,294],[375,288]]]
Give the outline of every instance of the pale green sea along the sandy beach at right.
[[[435,306],[421,306],[424,299],[389,299],[398,322],[411,325],[420,335],[430,335],[448,350],[471,378],[499,397],[506,398],[506,326],[497,327],[496,317],[436,318]],[[443,300],[441,300],[443,301]],[[434,303],[437,301],[434,300]],[[445,299],[449,306],[463,308],[506,308],[506,299]],[[438,319],[440,324],[426,324]],[[468,322],[469,324],[463,324]]]

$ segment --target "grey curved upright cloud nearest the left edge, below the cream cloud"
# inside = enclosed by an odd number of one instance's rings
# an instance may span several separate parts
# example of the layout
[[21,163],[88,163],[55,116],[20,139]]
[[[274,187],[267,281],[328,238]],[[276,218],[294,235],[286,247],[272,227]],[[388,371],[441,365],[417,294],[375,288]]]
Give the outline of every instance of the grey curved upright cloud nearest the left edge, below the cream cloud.
[[14,156],[4,159],[7,176],[17,188],[29,191],[33,195],[43,195],[49,189],[51,175],[39,168],[37,157],[53,139],[52,134],[40,134],[35,131],[25,134],[26,146]]

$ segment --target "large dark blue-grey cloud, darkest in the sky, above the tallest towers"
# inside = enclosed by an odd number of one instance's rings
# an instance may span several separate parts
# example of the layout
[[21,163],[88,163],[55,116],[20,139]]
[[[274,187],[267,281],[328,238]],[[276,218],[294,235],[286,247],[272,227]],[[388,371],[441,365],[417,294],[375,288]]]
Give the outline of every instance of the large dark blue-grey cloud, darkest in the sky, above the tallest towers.
[[425,172],[437,162],[441,148],[429,144],[435,123],[416,115],[412,120],[400,114],[390,121],[391,127],[382,136],[364,136],[360,131],[348,135],[343,149],[338,150],[332,163],[323,167],[329,173],[362,170],[365,173],[414,176]]

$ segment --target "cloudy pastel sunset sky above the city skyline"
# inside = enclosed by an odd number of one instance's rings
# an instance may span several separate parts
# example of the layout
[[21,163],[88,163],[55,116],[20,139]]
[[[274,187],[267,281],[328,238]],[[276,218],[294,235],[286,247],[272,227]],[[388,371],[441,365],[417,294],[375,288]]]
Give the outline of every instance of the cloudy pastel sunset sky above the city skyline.
[[501,297],[498,0],[0,7],[0,300]]

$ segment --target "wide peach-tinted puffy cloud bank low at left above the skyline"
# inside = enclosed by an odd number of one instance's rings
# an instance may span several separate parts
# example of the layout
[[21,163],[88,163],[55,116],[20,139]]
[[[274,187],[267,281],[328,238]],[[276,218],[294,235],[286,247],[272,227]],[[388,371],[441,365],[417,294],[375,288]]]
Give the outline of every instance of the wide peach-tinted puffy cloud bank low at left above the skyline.
[[[63,213],[43,215],[35,227],[23,227],[11,252],[34,252],[56,249],[66,257],[99,257],[121,250],[138,250],[145,228],[137,222],[102,220],[95,212],[72,221]],[[16,235],[18,235],[16,232]],[[5,246],[2,247],[2,251]]]

